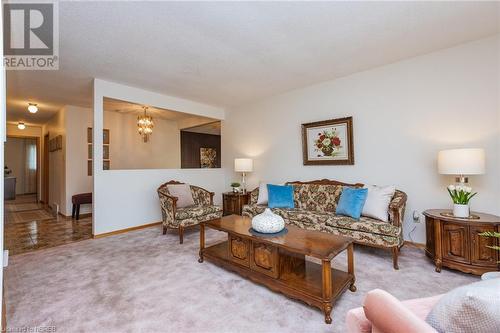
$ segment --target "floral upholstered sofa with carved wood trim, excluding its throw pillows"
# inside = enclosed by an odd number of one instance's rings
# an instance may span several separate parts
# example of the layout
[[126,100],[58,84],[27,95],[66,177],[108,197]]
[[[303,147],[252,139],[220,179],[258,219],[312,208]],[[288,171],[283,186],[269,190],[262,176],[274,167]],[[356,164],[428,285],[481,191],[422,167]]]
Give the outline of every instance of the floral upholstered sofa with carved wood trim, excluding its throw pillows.
[[[323,179],[310,182],[288,182],[294,187],[295,208],[273,208],[286,223],[309,230],[329,232],[353,238],[356,243],[387,248],[392,251],[394,269],[398,267],[398,252],[403,245],[403,217],[406,194],[396,190],[389,204],[389,222],[362,216],[359,221],[335,214],[343,186],[362,187]],[[250,202],[243,207],[243,216],[253,217],[266,206],[257,205],[259,189],[250,192]]]

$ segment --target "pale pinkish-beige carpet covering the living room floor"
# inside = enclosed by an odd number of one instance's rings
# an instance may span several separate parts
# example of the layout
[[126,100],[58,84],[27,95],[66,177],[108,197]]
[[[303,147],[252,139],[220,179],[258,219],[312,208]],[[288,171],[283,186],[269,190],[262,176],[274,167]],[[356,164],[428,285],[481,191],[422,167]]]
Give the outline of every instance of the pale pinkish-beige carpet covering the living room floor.
[[[224,234],[210,231],[208,241]],[[345,332],[346,312],[383,288],[400,299],[431,296],[478,278],[434,271],[421,250],[403,248],[399,271],[388,251],[356,247],[358,291],[333,308],[333,324],[305,304],[209,262],[197,262],[198,233],[158,227],[11,257],[7,324],[57,332]],[[345,256],[338,258],[345,267]]]

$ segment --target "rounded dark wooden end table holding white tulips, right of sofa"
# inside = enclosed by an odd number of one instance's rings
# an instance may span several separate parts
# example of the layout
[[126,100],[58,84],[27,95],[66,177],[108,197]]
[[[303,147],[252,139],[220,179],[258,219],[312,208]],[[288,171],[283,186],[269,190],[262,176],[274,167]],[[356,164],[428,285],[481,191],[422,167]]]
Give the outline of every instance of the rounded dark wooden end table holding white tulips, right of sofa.
[[497,271],[500,266],[498,251],[488,246],[498,245],[498,239],[483,237],[485,231],[500,231],[500,217],[472,212],[475,218],[450,216],[450,210],[431,209],[424,212],[426,245],[425,253],[436,265],[465,273],[481,275]]

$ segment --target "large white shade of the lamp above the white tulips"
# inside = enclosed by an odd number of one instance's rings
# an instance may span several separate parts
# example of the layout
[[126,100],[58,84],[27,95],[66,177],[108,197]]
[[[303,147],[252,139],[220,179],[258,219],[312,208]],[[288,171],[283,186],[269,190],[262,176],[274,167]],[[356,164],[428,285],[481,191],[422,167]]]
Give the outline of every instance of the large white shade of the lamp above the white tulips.
[[442,175],[482,175],[484,169],[484,149],[449,149],[438,153],[438,170]]

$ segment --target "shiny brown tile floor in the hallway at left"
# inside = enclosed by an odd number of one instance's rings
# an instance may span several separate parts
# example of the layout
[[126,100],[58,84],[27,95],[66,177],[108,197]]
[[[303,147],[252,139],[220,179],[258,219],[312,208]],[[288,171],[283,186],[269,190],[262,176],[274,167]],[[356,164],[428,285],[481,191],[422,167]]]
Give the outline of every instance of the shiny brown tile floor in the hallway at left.
[[53,217],[36,195],[20,195],[5,201],[4,240],[10,255],[46,249],[92,238],[92,218],[77,222]]

